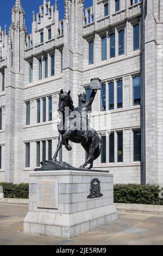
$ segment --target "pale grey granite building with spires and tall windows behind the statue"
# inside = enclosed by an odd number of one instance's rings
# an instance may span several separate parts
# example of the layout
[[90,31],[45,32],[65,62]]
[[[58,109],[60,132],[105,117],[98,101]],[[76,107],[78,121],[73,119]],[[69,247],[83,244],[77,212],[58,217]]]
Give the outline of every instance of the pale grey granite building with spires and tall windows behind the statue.
[[[0,28],[0,181],[28,182],[40,161],[57,147],[61,89],[90,94],[99,77],[102,90],[91,121],[102,135],[95,169],[110,170],[116,183],[163,184],[163,3],[160,0],[46,0],[33,13],[27,33],[20,0],[8,29]],[[78,144],[60,151],[60,160],[78,167]]]

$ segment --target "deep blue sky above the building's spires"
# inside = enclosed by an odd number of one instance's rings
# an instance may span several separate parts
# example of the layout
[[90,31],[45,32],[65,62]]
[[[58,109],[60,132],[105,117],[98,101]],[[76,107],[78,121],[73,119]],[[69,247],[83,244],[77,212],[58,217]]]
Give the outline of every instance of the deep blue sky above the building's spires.
[[[1,0],[2,1],[2,0]],[[15,0],[5,0],[0,8],[0,26],[2,30],[4,26],[7,25],[7,30],[11,24],[11,9],[15,3]],[[39,12],[39,5],[43,3],[43,0],[22,0],[22,6],[26,11],[26,26],[28,28],[28,34],[31,32],[31,22],[32,22],[32,11],[35,14]],[[51,4],[54,5],[54,0],[51,0]],[[92,5],[92,0],[85,0],[85,7],[90,7]],[[58,0],[58,9],[60,13],[60,20],[64,17],[64,0]]]

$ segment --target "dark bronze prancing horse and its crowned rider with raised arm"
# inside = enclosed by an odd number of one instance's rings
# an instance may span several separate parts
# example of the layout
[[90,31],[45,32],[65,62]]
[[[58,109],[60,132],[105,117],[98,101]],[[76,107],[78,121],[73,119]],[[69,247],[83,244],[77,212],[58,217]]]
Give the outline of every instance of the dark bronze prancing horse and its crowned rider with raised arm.
[[[102,139],[101,135],[99,135],[98,132],[93,130],[89,127],[88,121],[86,121],[86,127],[85,131],[80,130],[71,130],[71,123],[74,123],[74,118],[70,117],[70,114],[72,111],[76,111],[80,114],[80,118],[82,117],[82,113],[86,113],[87,118],[87,112],[90,111],[92,102],[96,95],[96,90],[92,90],[91,96],[89,101],[86,101],[86,95],[80,94],[79,96],[79,106],[74,108],[73,101],[70,96],[71,92],[68,93],[61,90],[60,96],[59,96],[59,108],[58,111],[61,113],[61,121],[58,124],[58,131],[59,131],[59,139],[58,139],[58,145],[57,150],[53,156],[53,161],[57,161],[57,156],[59,153],[60,148],[62,145],[65,145],[65,148],[70,151],[72,150],[72,147],[68,144],[68,141],[74,142],[74,143],[80,143],[82,147],[85,149],[88,157],[86,162],[80,166],[80,168],[85,168],[87,164],[90,164],[89,169],[93,167],[93,161],[98,158],[99,155],[101,155],[101,149],[102,149]],[[65,109],[68,107],[69,115],[66,117]],[[68,120],[66,120],[66,118]],[[68,121],[68,122],[66,122]],[[68,123],[68,127],[67,127]]]

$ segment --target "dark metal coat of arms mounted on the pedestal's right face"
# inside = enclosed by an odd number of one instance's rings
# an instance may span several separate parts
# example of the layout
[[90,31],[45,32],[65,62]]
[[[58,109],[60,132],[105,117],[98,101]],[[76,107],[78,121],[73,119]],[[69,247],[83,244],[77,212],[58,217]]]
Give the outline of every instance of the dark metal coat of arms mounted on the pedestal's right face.
[[103,194],[101,193],[100,181],[97,178],[95,178],[91,180],[90,194],[89,196],[87,196],[87,199],[94,199],[100,197],[103,197]]

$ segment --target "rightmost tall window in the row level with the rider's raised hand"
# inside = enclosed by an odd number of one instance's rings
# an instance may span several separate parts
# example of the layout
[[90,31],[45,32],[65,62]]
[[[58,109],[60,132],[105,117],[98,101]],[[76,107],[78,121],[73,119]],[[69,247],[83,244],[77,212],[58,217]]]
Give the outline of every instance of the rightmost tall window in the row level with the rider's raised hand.
[[133,77],[133,104],[141,104],[141,76]]

